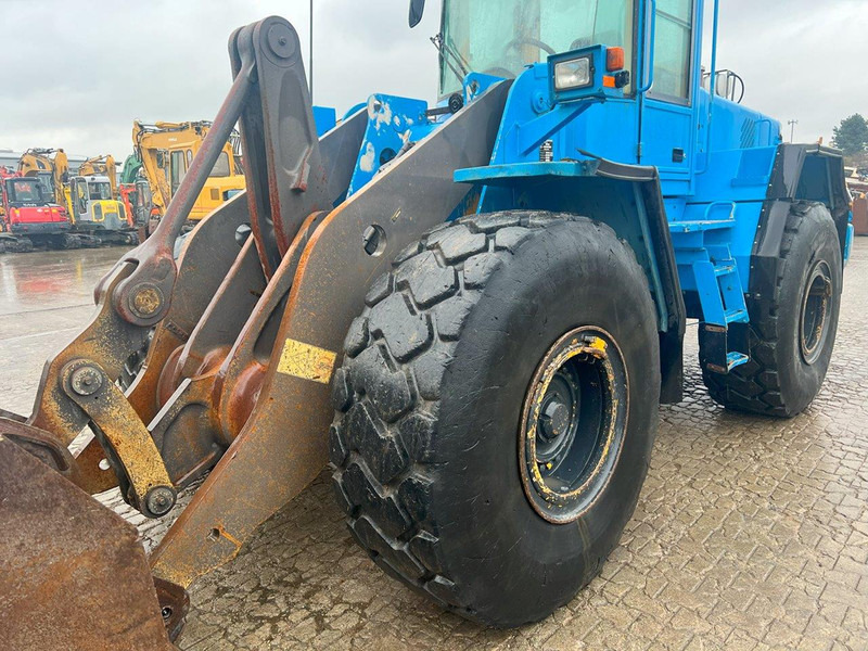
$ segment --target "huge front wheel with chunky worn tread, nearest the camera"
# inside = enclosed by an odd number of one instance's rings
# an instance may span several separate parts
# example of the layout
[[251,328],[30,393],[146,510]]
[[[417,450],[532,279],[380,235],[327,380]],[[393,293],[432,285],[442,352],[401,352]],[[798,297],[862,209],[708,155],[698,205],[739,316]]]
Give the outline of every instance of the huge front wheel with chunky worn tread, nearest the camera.
[[538,621],[597,575],[658,422],[648,281],[607,226],[444,225],[367,296],[335,374],[330,455],[356,540],[469,618]]

